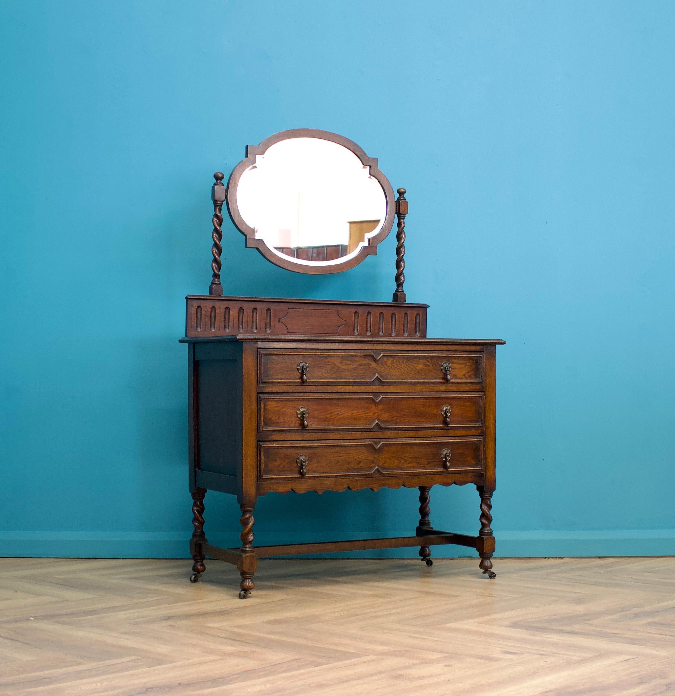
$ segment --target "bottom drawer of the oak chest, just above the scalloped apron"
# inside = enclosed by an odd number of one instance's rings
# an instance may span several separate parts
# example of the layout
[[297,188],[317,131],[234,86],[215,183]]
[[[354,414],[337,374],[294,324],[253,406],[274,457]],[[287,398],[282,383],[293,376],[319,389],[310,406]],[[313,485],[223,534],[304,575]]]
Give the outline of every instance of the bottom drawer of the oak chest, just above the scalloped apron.
[[481,471],[483,438],[258,443],[261,479]]

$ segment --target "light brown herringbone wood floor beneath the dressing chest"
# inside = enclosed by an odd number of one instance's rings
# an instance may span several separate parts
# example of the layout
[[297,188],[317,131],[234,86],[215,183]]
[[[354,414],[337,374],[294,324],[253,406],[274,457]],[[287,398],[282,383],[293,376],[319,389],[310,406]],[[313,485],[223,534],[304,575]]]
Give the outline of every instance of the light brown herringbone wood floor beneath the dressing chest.
[[0,560],[13,696],[675,694],[675,558]]

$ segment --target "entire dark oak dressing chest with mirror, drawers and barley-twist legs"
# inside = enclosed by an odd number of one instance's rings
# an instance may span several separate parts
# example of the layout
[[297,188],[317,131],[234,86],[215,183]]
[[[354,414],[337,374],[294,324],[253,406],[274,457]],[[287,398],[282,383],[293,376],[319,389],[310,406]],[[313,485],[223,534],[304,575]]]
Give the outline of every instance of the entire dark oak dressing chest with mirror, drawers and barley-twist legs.
[[[249,146],[230,176],[214,175],[212,283],[186,302],[191,580],[205,558],[235,564],[239,596],[260,557],[431,546],[475,548],[494,578],[495,346],[501,340],[427,338],[427,305],[404,292],[404,189],[395,200],[377,160],[336,134],[301,129]],[[336,192],[337,191],[337,192]],[[223,296],[222,207],[273,263],[301,273],[354,267],[397,218],[392,302]],[[474,536],[435,530],[434,484],[475,484]],[[417,487],[408,537],[255,546],[255,503],[266,493]],[[209,544],[208,490],[237,496],[241,546]]]

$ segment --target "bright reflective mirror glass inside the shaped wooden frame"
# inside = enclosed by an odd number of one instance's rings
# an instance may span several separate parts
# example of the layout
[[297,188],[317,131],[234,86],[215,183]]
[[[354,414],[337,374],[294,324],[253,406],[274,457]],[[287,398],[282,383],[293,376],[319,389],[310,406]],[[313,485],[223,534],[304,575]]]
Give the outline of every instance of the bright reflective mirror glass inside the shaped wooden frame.
[[255,157],[237,186],[241,217],[276,254],[329,265],[358,254],[382,228],[386,194],[342,145],[282,140]]

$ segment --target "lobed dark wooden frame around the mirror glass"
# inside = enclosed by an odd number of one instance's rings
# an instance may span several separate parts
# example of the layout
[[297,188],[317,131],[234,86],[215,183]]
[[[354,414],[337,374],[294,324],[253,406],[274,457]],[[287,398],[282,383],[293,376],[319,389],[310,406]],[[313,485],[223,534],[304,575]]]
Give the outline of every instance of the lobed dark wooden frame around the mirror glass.
[[[239,212],[239,207],[237,205],[237,187],[239,186],[241,176],[255,165],[255,158],[258,155],[264,155],[264,153],[267,152],[272,145],[275,145],[280,141],[295,138],[317,138],[320,140],[337,143],[337,145],[342,145],[342,147],[353,152],[354,155],[360,159],[363,166],[367,166],[369,168],[370,176],[379,182],[380,186],[382,187],[384,196],[386,198],[386,212],[379,232],[372,237],[367,237],[366,244],[361,246],[356,253],[345,256],[344,261],[336,259],[332,262],[314,262],[308,264],[298,262],[291,256],[277,253],[267,246],[264,239],[256,238],[255,228],[251,227],[241,216],[241,212]],[[335,191],[335,196],[339,199],[340,191]],[[232,222],[235,224],[235,227],[239,230],[239,232],[246,237],[247,247],[257,248],[264,258],[271,261],[276,266],[280,266],[289,271],[295,271],[296,273],[319,275],[347,271],[350,268],[354,268],[354,266],[357,264],[360,264],[360,262],[362,262],[367,256],[376,254],[377,245],[383,239],[385,239],[394,225],[395,215],[394,190],[392,189],[387,177],[383,175],[381,171],[379,171],[377,166],[377,158],[368,157],[356,143],[344,138],[341,135],[311,128],[297,128],[282,131],[269,136],[269,138],[262,141],[260,145],[247,145],[246,159],[242,159],[241,162],[239,162],[239,164],[237,164],[237,166],[232,170],[232,174],[230,174],[227,187],[227,204],[230,219],[232,219]]]

